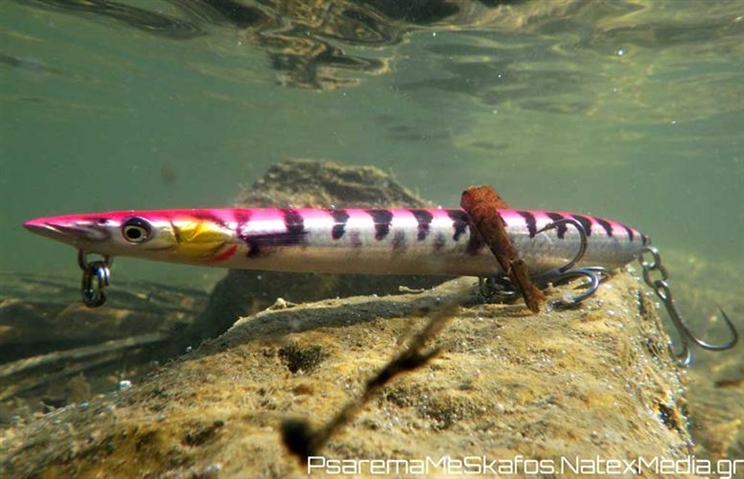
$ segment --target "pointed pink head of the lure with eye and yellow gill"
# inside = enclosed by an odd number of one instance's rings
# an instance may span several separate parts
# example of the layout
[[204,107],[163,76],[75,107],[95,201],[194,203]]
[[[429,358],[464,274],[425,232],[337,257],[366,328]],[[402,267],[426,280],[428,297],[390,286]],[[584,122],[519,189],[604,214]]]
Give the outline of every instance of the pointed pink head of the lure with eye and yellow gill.
[[28,230],[87,253],[201,262],[229,246],[233,233],[190,210],[114,211],[37,218]]

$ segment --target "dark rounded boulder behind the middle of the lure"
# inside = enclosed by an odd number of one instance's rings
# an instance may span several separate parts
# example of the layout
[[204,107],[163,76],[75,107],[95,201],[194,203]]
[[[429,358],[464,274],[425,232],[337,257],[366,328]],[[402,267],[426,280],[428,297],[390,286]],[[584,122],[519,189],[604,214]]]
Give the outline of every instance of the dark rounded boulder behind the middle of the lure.
[[[327,160],[292,160],[272,166],[239,195],[246,208],[422,208],[429,206],[382,170]],[[210,294],[190,342],[214,337],[237,318],[260,311],[277,298],[290,302],[365,294],[395,294],[401,286],[430,288],[446,278],[411,275],[333,275],[230,270]]]

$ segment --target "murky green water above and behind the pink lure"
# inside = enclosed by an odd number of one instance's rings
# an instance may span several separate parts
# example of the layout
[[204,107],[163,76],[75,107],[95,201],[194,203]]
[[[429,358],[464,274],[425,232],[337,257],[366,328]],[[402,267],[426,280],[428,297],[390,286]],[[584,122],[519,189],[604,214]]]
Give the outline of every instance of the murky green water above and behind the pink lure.
[[2,271],[77,280],[75,252],[25,219],[228,206],[272,163],[322,157],[435,204],[488,183],[614,218],[680,281],[724,265],[744,291],[740,1],[207,3],[0,3]]

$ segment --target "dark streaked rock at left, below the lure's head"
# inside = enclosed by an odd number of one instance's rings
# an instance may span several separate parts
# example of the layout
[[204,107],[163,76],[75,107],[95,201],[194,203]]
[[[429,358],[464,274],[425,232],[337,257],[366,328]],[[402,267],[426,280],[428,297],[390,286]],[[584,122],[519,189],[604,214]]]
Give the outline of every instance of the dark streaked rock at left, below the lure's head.
[[4,272],[0,284],[0,428],[181,354],[181,331],[207,303],[201,290],[123,279],[101,308],[68,277]]

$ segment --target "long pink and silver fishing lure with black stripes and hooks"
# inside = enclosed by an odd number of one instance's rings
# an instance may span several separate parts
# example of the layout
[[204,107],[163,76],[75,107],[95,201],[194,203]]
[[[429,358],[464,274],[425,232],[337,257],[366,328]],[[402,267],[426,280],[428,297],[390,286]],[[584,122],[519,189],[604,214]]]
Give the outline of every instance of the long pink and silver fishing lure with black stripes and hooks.
[[[736,344],[738,334],[725,315],[734,335],[729,343],[708,344],[691,333],[676,314],[658,252],[638,230],[568,212],[499,209],[497,214],[538,287],[586,278],[587,290],[569,300],[577,303],[593,294],[610,270],[640,258],[644,278],[680,332],[678,357],[685,364],[691,360],[688,339],[712,350]],[[78,250],[88,306],[105,302],[115,256],[266,271],[477,276],[486,278],[482,285],[490,293],[511,297],[518,290],[462,209],[116,211],[38,218],[23,225]],[[643,259],[648,253],[653,262]],[[103,259],[89,261],[89,254]],[[663,277],[652,280],[657,270]]]

